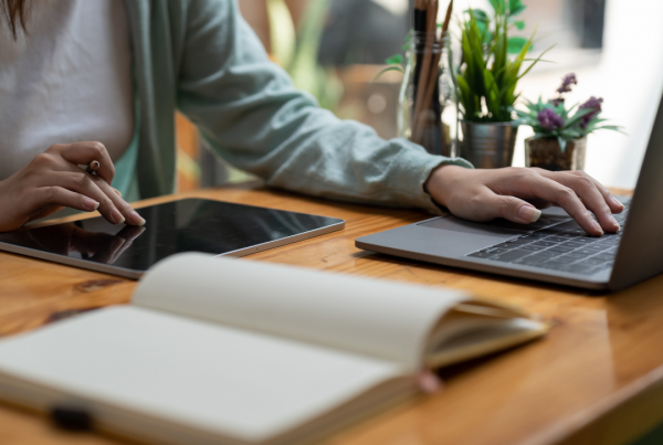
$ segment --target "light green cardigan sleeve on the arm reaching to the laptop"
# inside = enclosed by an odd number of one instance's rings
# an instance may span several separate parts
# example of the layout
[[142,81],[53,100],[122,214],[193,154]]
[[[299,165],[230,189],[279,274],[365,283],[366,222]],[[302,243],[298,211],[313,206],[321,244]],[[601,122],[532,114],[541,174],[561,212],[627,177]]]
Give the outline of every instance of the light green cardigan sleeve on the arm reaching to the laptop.
[[232,2],[222,4],[222,18],[190,33],[178,100],[219,155],[272,187],[438,210],[423,183],[443,162],[467,162],[428,155],[404,139],[383,140],[320,109],[269,61]]

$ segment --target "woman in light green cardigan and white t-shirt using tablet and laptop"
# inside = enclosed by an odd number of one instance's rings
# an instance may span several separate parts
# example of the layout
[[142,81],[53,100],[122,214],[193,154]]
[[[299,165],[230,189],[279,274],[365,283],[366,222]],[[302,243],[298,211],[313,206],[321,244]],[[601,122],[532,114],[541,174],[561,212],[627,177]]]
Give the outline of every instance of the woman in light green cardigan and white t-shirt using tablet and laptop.
[[[589,234],[619,230],[623,206],[585,173],[473,170],[338,120],[270,63],[234,0],[0,3],[0,232],[61,206],[144,224],[125,199],[172,192],[176,108],[272,187],[524,224],[555,204]],[[97,176],[78,167],[93,160]]]

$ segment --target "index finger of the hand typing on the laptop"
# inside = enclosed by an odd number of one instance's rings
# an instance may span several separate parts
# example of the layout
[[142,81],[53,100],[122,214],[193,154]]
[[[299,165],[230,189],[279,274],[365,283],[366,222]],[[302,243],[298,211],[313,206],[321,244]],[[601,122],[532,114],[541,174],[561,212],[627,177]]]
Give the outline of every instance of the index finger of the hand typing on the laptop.
[[599,223],[570,188],[540,174],[527,174],[518,178],[514,189],[514,194],[534,195],[557,203],[590,235],[603,234]]

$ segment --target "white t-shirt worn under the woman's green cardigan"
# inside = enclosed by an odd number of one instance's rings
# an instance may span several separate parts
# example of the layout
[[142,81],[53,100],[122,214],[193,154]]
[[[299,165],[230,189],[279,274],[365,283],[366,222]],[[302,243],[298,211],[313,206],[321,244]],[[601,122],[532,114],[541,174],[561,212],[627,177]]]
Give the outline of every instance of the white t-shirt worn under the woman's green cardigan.
[[130,32],[122,0],[42,0],[14,41],[0,17],[0,180],[53,144],[134,134]]

